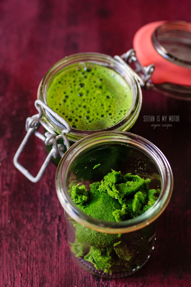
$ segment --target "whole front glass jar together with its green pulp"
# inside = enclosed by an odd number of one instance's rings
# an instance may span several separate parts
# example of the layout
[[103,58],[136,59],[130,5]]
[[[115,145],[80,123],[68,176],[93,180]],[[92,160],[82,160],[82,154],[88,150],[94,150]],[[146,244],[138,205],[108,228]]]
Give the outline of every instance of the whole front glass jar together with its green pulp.
[[106,131],[76,142],[60,161],[56,190],[77,263],[106,278],[140,269],[172,188],[168,161],[142,137]]

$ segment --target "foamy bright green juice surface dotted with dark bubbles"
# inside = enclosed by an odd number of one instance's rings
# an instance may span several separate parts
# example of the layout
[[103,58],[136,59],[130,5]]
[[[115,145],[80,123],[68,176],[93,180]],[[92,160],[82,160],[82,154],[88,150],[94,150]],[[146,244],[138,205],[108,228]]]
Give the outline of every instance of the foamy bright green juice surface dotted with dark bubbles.
[[96,63],[77,63],[54,76],[47,104],[74,129],[99,130],[115,125],[128,113],[132,93],[113,69]]

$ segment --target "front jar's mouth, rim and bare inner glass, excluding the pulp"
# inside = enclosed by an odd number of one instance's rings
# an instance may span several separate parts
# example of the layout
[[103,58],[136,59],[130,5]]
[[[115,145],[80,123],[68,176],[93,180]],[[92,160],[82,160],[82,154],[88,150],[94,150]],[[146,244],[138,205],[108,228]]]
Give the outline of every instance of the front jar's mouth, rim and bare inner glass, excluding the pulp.
[[[94,170],[95,164],[100,166]],[[101,221],[79,210],[70,197],[72,185],[83,183],[88,188],[111,169],[145,179],[149,177],[150,188],[161,189],[153,207],[136,218],[121,222]],[[106,233],[131,232],[153,222],[170,200],[172,182],[172,171],[162,153],[149,141],[122,132],[97,133],[77,142],[64,155],[56,173],[57,194],[65,211],[84,226]]]

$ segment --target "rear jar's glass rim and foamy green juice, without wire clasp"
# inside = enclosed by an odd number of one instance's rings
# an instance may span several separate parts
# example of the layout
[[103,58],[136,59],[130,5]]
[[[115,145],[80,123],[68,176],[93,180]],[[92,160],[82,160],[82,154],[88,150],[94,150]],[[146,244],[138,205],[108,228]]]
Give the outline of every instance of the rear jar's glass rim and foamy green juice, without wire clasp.
[[[127,64],[98,53],[56,63],[43,78],[37,98],[70,124],[67,136],[74,142],[98,131],[130,129],[142,104],[140,85]],[[44,120],[62,132],[46,111]]]

